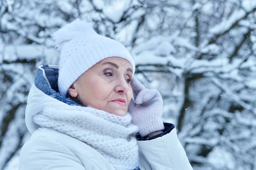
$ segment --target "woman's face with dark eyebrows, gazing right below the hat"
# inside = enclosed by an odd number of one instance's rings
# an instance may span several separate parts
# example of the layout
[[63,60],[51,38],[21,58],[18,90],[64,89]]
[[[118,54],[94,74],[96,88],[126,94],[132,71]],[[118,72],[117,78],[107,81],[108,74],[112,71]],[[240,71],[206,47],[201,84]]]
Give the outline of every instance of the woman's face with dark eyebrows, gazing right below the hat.
[[132,71],[123,58],[105,58],[84,72],[68,92],[84,106],[125,116],[132,96]]

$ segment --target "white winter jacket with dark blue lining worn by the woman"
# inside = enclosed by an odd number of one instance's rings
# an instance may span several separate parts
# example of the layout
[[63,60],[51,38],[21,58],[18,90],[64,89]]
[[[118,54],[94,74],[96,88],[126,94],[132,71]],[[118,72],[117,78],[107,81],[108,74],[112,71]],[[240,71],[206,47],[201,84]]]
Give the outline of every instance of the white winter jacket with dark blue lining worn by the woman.
[[[84,142],[33,123],[33,115],[47,103],[59,100],[49,97],[53,96],[48,94],[49,90],[43,92],[42,83],[38,85],[44,74],[38,70],[35,84],[29,92],[26,126],[32,135],[20,151],[19,170],[115,170],[104,156]],[[48,78],[46,81],[48,85],[53,83],[51,80]],[[47,95],[47,100],[42,100]],[[165,132],[151,138],[138,135],[137,144],[140,148],[140,170],[192,170],[173,124],[165,123]]]

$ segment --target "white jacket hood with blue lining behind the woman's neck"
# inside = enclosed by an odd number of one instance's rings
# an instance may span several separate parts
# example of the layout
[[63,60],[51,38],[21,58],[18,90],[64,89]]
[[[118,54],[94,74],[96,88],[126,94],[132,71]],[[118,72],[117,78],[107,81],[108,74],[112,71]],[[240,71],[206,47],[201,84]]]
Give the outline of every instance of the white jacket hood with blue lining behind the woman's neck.
[[39,66],[26,105],[25,123],[29,132],[32,134],[39,128],[33,120],[34,115],[49,105],[59,104],[81,106],[58,92],[58,66]]

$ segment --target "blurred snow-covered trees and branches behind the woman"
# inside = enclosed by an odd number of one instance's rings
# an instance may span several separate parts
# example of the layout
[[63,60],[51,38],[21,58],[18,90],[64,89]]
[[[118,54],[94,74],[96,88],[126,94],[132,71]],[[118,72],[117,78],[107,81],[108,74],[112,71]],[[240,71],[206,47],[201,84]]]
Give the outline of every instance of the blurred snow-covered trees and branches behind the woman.
[[30,136],[37,66],[58,64],[50,35],[77,17],[129,49],[194,170],[256,170],[256,0],[0,0],[0,170]]

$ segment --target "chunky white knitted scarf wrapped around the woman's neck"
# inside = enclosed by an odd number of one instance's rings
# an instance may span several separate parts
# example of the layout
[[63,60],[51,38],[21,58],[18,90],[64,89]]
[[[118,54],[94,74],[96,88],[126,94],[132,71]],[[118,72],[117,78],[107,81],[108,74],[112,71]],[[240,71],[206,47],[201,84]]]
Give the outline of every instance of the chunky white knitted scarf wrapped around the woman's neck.
[[139,150],[131,115],[116,116],[91,107],[46,107],[34,116],[41,127],[72,136],[102,154],[116,170],[134,170]]

